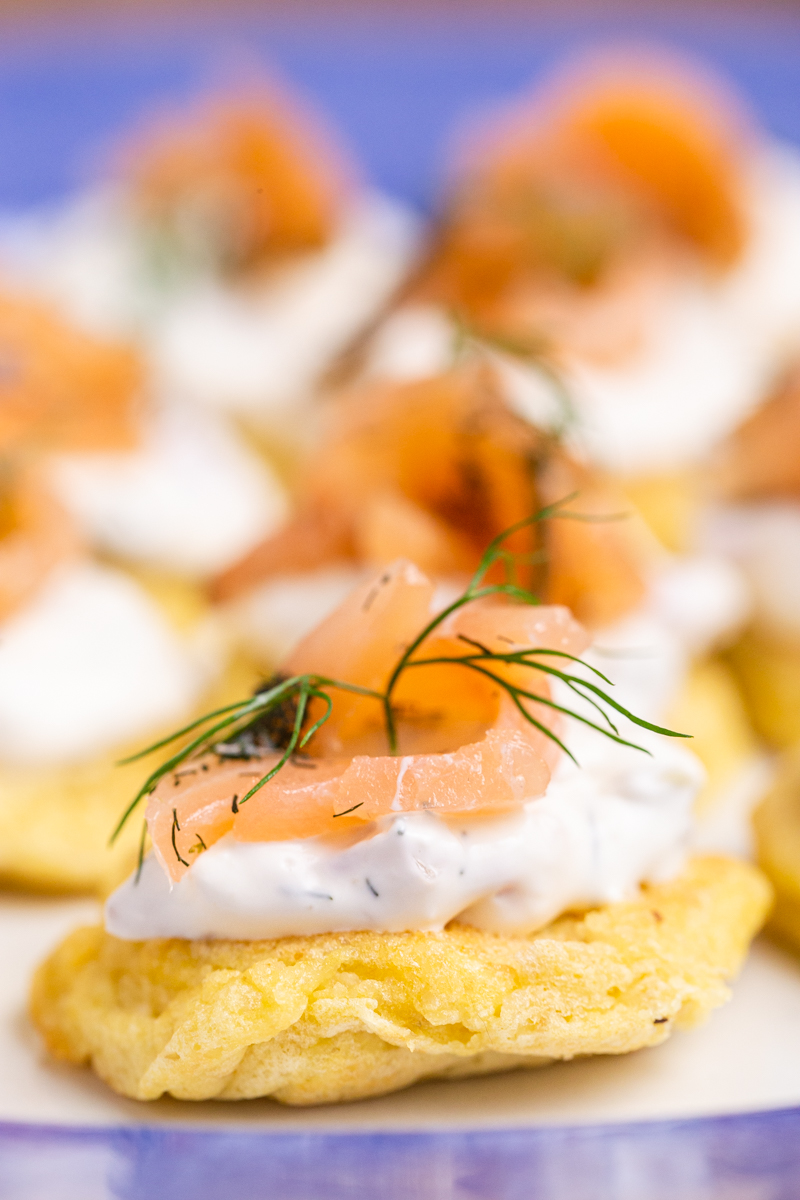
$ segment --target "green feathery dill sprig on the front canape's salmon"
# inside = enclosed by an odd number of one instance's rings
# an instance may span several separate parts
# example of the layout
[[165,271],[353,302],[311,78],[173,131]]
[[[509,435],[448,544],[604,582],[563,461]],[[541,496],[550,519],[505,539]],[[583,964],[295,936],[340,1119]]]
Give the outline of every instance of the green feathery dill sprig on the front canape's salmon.
[[[456,600],[453,600],[452,604],[447,605],[441,610],[441,612],[437,613],[437,616],[433,617],[425,629],[422,629],[421,632],[414,638],[403,654],[401,654],[391,674],[389,676],[389,682],[384,691],[378,691],[372,688],[362,688],[357,684],[347,683],[342,679],[331,679],[327,676],[321,674],[289,676],[288,678],[276,680],[271,686],[267,685],[259,689],[247,700],[225,704],[223,708],[217,708],[211,713],[206,713],[204,716],[199,716],[197,720],[191,721],[188,725],[176,730],[174,733],[162,738],[160,742],[146,746],[144,750],[131,755],[128,758],[125,758],[125,763],[136,762],[139,758],[155,754],[157,750],[162,750],[164,746],[188,738],[188,740],[186,740],[180,749],[162,762],[161,766],[158,766],[144,781],[120,817],[114,833],[112,834],[112,842],[116,839],[139,803],[155,791],[160,781],[166,775],[173,774],[188,760],[198,758],[207,751],[213,750],[221,742],[222,737],[229,742],[234,742],[237,737],[248,731],[254,722],[263,720],[265,714],[278,708],[283,708],[285,710],[287,702],[291,702],[294,704],[294,721],[291,722],[290,736],[283,746],[283,752],[270,770],[257,780],[257,782],[249,788],[248,792],[245,793],[245,796],[241,797],[241,799],[237,799],[239,809],[241,809],[242,804],[246,804],[247,800],[249,800],[251,797],[254,796],[261,787],[269,784],[271,779],[275,779],[278,772],[295,754],[302,751],[308,745],[313,736],[321,728],[331,715],[333,708],[330,695],[331,691],[345,691],[357,696],[367,696],[381,704],[384,709],[389,752],[396,755],[398,752],[397,712],[393,703],[393,696],[403,673],[417,667],[451,664],[464,667],[464,670],[473,671],[491,679],[511,697],[515,707],[525,721],[554,742],[570,758],[572,758],[573,762],[576,762],[576,758],[570,749],[564,744],[558,734],[553,732],[553,730],[551,730],[543,721],[539,720],[530,712],[528,704],[541,704],[546,708],[554,709],[566,716],[571,716],[573,720],[581,721],[583,725],[588,725],[593,730],[596,730],[599,733],[609,738],[612,742],[630,746],[633,750],[640,750],[644,754],[649,754],[650,751],[644,746],[637,745],[634,742],[628,742],[620,734],[618,726],[612,720],[612,716],[606,710],[607,708],[621,714],[633,725],[637,725],[643,730],[650,730],[652,733],[661,733],[669,738],[690,737],[690,734],[676,733],[674,730],[663,728],[660,725],[645,721],[640,716],[636,716],[636,714],[631,713],[622,704],[613,700],[613,697],[608,695],[600,683],[573,674],[570,671],[569,664],[579,664],[582,667],[590,671],[595,679],[601,680],[601,683],[608,688],[613,686],[613,682],[601,671],[591,666],[591,664],[585,662],[583,659],[579,659],[573,654],[569,654],[566,650],[551,650],[541,647],[530,647],[528,649],[505,653],[492,650],[481,642],[465,637],[464,635],[459,635],[459,640],[464,642],[464,654],[445,654],[432,658],[416,656],[423,643],[450,616],[452,616],[452,613],[469,604],[474,604],[476,600],[483,600],[487,596],[503,595],[521,604],[539,605],[541,602],[539,596],[536,596],[533,592],[519,587],[516,582],[516,566],[519,560],[525,558],[525,556],[509,551],[504,544],[512,536],[512,534],[541,521],[553,518],[599,521],[616,520],[620,516],[619,514],[613,514],[609,518],[603,518],[596,515],[575,512],[567,509],[566,505],[569,505],[576,496],[577,493],[573,493],[561,500],[557,500],[554,504],[548,504],[546,508],[540,509],[531,516],[524,517],[522,521],[518,521],[516,524],[498,534],[498,536],[486,548],[479,563],[477,570],[469,581],[465,590]],[[499,583],[486,583],[486,577],[495,564],[503,565],[505,580]],[[554,659],[557,660],[557,664],[543,661],[546,659]],[[559,666],[558,660],[566,660],[566,664],[561,661]],[[503,674],[498,674],[497,668],[503,668],[505,666],[527,667],[551,678],[559,679],[571,692],[576,695],[576,697],[587,702],[596,710],[599,718],[602,720],[602,724],[600,724],[600,721],[594,721],[591,718],[583,715],[572,708],[569,708],[566,704],[559,704],[554,700],[542,696],[529,688],[523,688],[517,683],[512,683],[510,679],[504,678]],[[320,701],[324,708],[321,715],[314,720],[311,727],[305,728],[308,708],[311,702],[314,700]],[[190,734],[194,734],[194,737],[190,737]],[[343,815],[344,814],[337,814],[337,816]],[[175,832],[180,827],[178,826],[178,815],[175,811],[173,812],[173,816],[174,840]],[[140,857],[143,850],[144,839],[140,844]]]

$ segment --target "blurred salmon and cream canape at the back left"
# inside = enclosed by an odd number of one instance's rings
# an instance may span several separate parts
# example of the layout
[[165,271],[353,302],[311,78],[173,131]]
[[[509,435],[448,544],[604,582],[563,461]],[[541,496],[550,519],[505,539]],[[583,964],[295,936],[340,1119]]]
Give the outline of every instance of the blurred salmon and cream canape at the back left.
[[0,264],[90,329],[140,338],[160,390],[294,449],[295,407],[408,274],[417,217],[273,83],[145,121],[116,160],[108,193],[0,223]]

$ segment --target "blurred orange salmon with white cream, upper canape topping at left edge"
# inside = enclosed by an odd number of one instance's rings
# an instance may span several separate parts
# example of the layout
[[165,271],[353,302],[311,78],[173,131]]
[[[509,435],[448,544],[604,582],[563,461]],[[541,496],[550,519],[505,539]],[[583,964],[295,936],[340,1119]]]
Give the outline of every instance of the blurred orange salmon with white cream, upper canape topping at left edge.
[[197,581],[284,516],[275,473],[223,418],[157,395],[127,343],[6,292],[0,354],[0,454],[46,456],[52,490],[100,552]]

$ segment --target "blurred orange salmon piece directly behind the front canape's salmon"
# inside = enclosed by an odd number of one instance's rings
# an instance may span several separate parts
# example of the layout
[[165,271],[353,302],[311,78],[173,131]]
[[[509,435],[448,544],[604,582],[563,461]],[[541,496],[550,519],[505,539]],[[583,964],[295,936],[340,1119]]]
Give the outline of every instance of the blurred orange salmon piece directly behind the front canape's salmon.
[[[404,557],[434,577],[468,575],[493,538],[545,504],[577,492],[581,511],[625,508],[609,485],[507,409],[486,364],[373,384],[341,397],[333,414],[300,490],[301,509],[217,577],[215,599],[342,559],[380,566]],[[506,546],[529,556],[519,582],[579,620],[614,620],[644,594],[640,547],[625,522],[548,521]],[[498,568],[491,577],[500,577]]]

